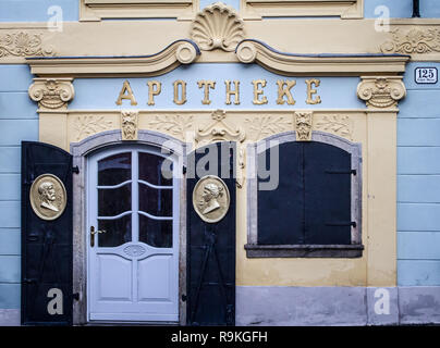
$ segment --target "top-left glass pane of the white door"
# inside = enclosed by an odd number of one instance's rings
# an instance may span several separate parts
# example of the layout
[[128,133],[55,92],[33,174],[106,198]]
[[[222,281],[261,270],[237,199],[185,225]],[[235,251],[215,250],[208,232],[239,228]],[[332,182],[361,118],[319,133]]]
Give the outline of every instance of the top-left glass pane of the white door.
[[112,186],[132,178],[132,153],[118,153],[98,162],[98,185]]

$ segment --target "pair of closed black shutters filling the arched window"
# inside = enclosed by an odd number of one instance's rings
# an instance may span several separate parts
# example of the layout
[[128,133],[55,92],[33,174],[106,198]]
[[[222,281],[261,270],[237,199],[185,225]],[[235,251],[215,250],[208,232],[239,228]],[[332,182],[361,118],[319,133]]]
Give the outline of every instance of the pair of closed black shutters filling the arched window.
[[[258,156],[267,169],[269,153]],[[258,244],[350,245],[351,154],[318,141],[290,141],[279,146],[279,163],[277,189],[258,190]]]

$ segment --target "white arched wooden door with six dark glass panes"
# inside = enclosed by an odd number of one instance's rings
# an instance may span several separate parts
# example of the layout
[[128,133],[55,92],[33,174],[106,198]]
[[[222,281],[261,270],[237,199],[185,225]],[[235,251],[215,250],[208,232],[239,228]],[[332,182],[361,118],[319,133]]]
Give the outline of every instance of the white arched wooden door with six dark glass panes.
[[179,320],[179,179],[169,163],[130,146],[88,159],[88,320]]

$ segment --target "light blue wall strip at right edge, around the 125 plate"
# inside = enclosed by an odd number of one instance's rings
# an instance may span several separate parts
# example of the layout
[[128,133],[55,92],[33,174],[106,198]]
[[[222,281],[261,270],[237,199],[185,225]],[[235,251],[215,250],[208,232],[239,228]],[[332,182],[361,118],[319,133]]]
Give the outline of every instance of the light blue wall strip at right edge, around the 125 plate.
[[[423,1],[421,1],[423,2]],[[440,83],[417,85],[410,63],[398,119],[398,283],[440,285]]]

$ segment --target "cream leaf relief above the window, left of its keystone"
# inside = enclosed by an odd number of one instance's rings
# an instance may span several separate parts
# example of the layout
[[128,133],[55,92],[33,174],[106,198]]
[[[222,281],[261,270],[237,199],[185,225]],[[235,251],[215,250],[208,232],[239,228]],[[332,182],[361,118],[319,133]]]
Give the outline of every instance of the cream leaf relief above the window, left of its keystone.
[[254,140],[260,140],[272,134],[293,129],[292,116],[268,115],[246,117],[247,134]]

